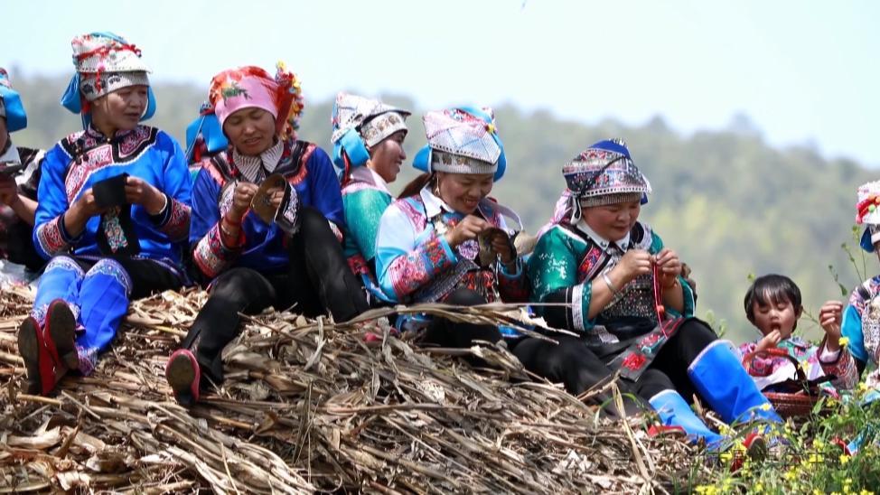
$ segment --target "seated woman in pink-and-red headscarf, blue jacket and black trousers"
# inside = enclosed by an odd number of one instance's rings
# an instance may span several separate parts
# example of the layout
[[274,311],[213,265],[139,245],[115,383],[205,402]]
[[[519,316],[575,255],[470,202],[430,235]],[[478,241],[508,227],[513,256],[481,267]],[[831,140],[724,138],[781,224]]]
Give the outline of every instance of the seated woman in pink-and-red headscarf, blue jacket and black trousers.
[[281,64],[275,78],[253,66],[224,70],[209,98],[229,149],[204,160],[193,185],[192,258],[211,296],[165,369],[183,405],[198,400],[202,377],[222,381],[220,353],[241,332],[239,313],[295,306],[345,322],[369,307],[342,256],[330,157],[296,139],[303,101],[294,74]]

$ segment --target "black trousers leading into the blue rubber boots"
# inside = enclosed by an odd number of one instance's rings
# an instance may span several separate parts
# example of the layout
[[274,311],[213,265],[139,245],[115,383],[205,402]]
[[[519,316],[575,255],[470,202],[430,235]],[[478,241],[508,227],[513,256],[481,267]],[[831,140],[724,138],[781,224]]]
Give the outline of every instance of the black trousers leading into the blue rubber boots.
[[[513,347],[513,354],[529,371],[553,382],[561,382],[573,395],[580,395],[591,388],[600,388],[613,378],[614,370],[607,363],[616,354],[600,359],[582,339],[554,336],[558,345],[538,339],[523,339]],[[618,388],[624,394],[624,411],[630,415],[650,408],[647,401],[666,389],[675,389],[688,402],[696,393],[688,378],[688,366],[699,352],[717,339],[706,323],[688,320],[682,324],[660,353],[636,381],[621,379]],[[610,394],[591,399],[594,405],[602,405],[608,416],[620,412],[610,404]]]

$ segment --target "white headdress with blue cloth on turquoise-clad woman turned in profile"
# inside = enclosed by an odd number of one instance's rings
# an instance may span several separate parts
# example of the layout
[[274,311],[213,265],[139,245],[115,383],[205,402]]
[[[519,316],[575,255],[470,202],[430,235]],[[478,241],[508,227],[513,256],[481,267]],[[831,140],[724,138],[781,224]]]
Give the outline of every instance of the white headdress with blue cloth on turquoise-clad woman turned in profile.
[[333,163],[343,171],[367,163],[370,159],[367,147],[378,144],[398,131],[407,132],[406,120],[409,115],[407,110],[392,107],[378,99],[339,93],[333,104],[332,115]]

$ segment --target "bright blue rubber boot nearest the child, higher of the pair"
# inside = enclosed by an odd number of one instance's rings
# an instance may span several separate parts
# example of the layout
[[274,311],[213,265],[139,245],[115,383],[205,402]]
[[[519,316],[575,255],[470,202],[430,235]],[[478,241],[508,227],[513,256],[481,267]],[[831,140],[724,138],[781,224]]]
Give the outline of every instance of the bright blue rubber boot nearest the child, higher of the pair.
[[690,363],[688,377],[728,425],[753,421],[782,423],[726,341],[707,345]]

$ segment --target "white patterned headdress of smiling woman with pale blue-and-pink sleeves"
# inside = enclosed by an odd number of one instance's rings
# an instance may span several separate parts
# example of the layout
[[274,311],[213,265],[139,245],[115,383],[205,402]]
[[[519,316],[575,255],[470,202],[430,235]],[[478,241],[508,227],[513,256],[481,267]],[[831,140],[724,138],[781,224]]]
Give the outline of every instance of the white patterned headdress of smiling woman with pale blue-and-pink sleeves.
[[422,117],[428,144],[413,166],[433,173],[494,173],[498,181],[507,168],[504,145],[489,107],[457,107]]

